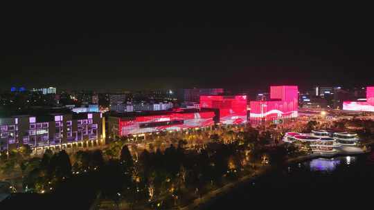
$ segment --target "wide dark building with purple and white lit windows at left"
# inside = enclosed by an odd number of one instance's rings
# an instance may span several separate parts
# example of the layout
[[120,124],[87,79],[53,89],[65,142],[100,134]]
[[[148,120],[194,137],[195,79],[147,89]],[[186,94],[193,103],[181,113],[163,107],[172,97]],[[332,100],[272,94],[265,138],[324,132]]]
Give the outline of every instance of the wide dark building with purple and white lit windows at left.
[[0,151],[98,140],[101,137],[100,113],[53,113],[0,117]]

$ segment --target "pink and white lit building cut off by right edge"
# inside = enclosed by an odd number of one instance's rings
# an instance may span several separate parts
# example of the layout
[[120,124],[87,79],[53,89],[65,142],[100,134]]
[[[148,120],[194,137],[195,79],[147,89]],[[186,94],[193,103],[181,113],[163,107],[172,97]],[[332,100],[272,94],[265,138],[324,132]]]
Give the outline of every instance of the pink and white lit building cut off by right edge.
[[366,102],[343,102],[343,110],[374,112],[374,86],[366,87]]

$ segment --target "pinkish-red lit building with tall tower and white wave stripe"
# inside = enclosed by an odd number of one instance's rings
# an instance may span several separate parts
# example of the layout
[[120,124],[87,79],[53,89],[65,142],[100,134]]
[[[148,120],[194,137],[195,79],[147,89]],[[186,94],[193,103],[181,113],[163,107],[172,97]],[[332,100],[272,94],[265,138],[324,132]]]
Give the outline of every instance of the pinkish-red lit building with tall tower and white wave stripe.
[[250,120],[282,120],[297,117],[297,86],[270,86],[269,101],[250,102]]

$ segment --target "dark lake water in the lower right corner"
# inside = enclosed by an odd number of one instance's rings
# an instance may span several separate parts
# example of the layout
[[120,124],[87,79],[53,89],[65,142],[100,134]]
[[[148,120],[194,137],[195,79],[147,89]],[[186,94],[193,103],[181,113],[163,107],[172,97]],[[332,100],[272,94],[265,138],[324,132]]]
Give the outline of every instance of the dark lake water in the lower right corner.
[[374,153],[290,164],[202,209],[373,209]]

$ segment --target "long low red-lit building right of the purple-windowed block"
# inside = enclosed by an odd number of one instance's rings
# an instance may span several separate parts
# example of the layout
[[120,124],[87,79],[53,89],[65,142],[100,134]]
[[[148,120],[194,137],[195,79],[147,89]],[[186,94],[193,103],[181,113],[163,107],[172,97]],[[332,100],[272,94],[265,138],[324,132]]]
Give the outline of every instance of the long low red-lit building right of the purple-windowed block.
[[121,137],[141,133],[200,128],[212,126],[215,123],[213,117],[215,117],[213,111],[198,111],[197,109],[117,113],[108,117],[107,133],[113,137]]

